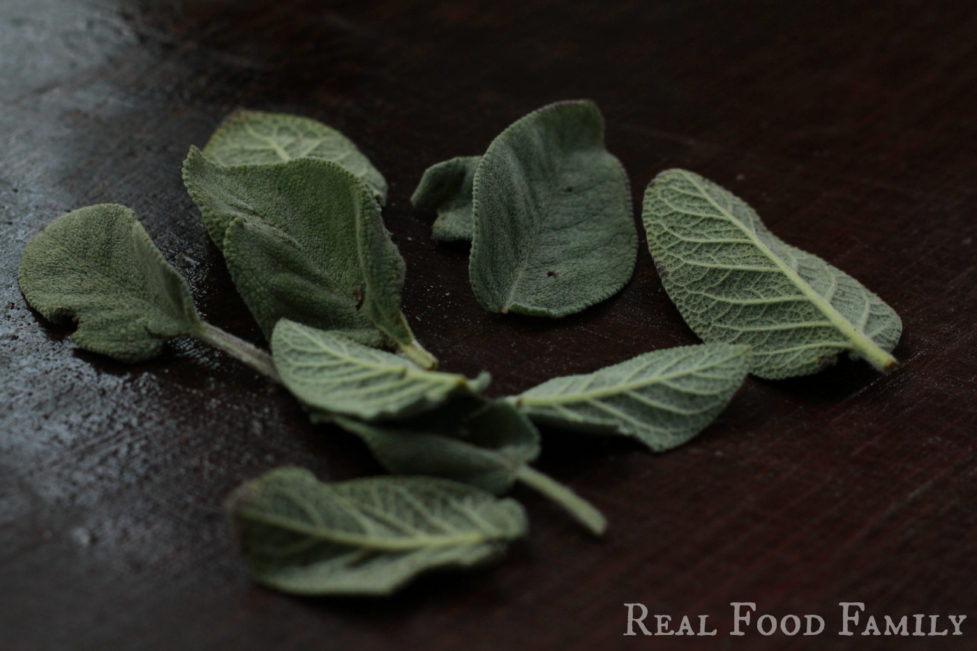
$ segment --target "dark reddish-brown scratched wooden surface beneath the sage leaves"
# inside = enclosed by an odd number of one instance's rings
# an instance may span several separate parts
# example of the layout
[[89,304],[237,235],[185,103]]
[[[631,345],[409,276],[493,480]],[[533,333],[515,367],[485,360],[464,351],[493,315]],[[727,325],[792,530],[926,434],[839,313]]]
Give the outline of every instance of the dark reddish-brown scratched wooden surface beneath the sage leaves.
[[[0,74],[0,649],[977,648],[972,3],[4,0]],[[748,378],[665,455],[545,431],[538,466],[605,512],[605,540],[516,490],[531,537],[497,566],[387,600],[256,586],[222,500],[282,464],[379,472],[363,446],[194,342],[137,366],[79,351],[18,288],[41,226],[123,203],[205,318],[264,345],[179,172],[246,107],[331,124],[384,172],[410,325],[444,369],[488,369],[492,395],[696,342],[644,240],[614,298],[503,317],[476,303],[466,247],[434,243],[410,207],[428,165],[568,98],[603,109],[639,214],[658,171],[696,170],[905,325],[899,369]],[[827,626],[734,637],[732,601]],[[843,637],[840,601],[882,629],[967,620],[956,637]],[[623,636],[631,602],[718,634]]]

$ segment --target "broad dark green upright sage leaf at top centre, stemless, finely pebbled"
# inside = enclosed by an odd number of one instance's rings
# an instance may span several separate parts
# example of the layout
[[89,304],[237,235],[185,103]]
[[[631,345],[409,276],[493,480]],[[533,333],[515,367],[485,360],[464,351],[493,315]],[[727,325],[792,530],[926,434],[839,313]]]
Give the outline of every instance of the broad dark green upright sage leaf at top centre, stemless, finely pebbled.
[[631,278],[638,236],[627,174],[592,102],[535,110],[503,131],[474,182],[469,278],[489,312],[565,317]]

